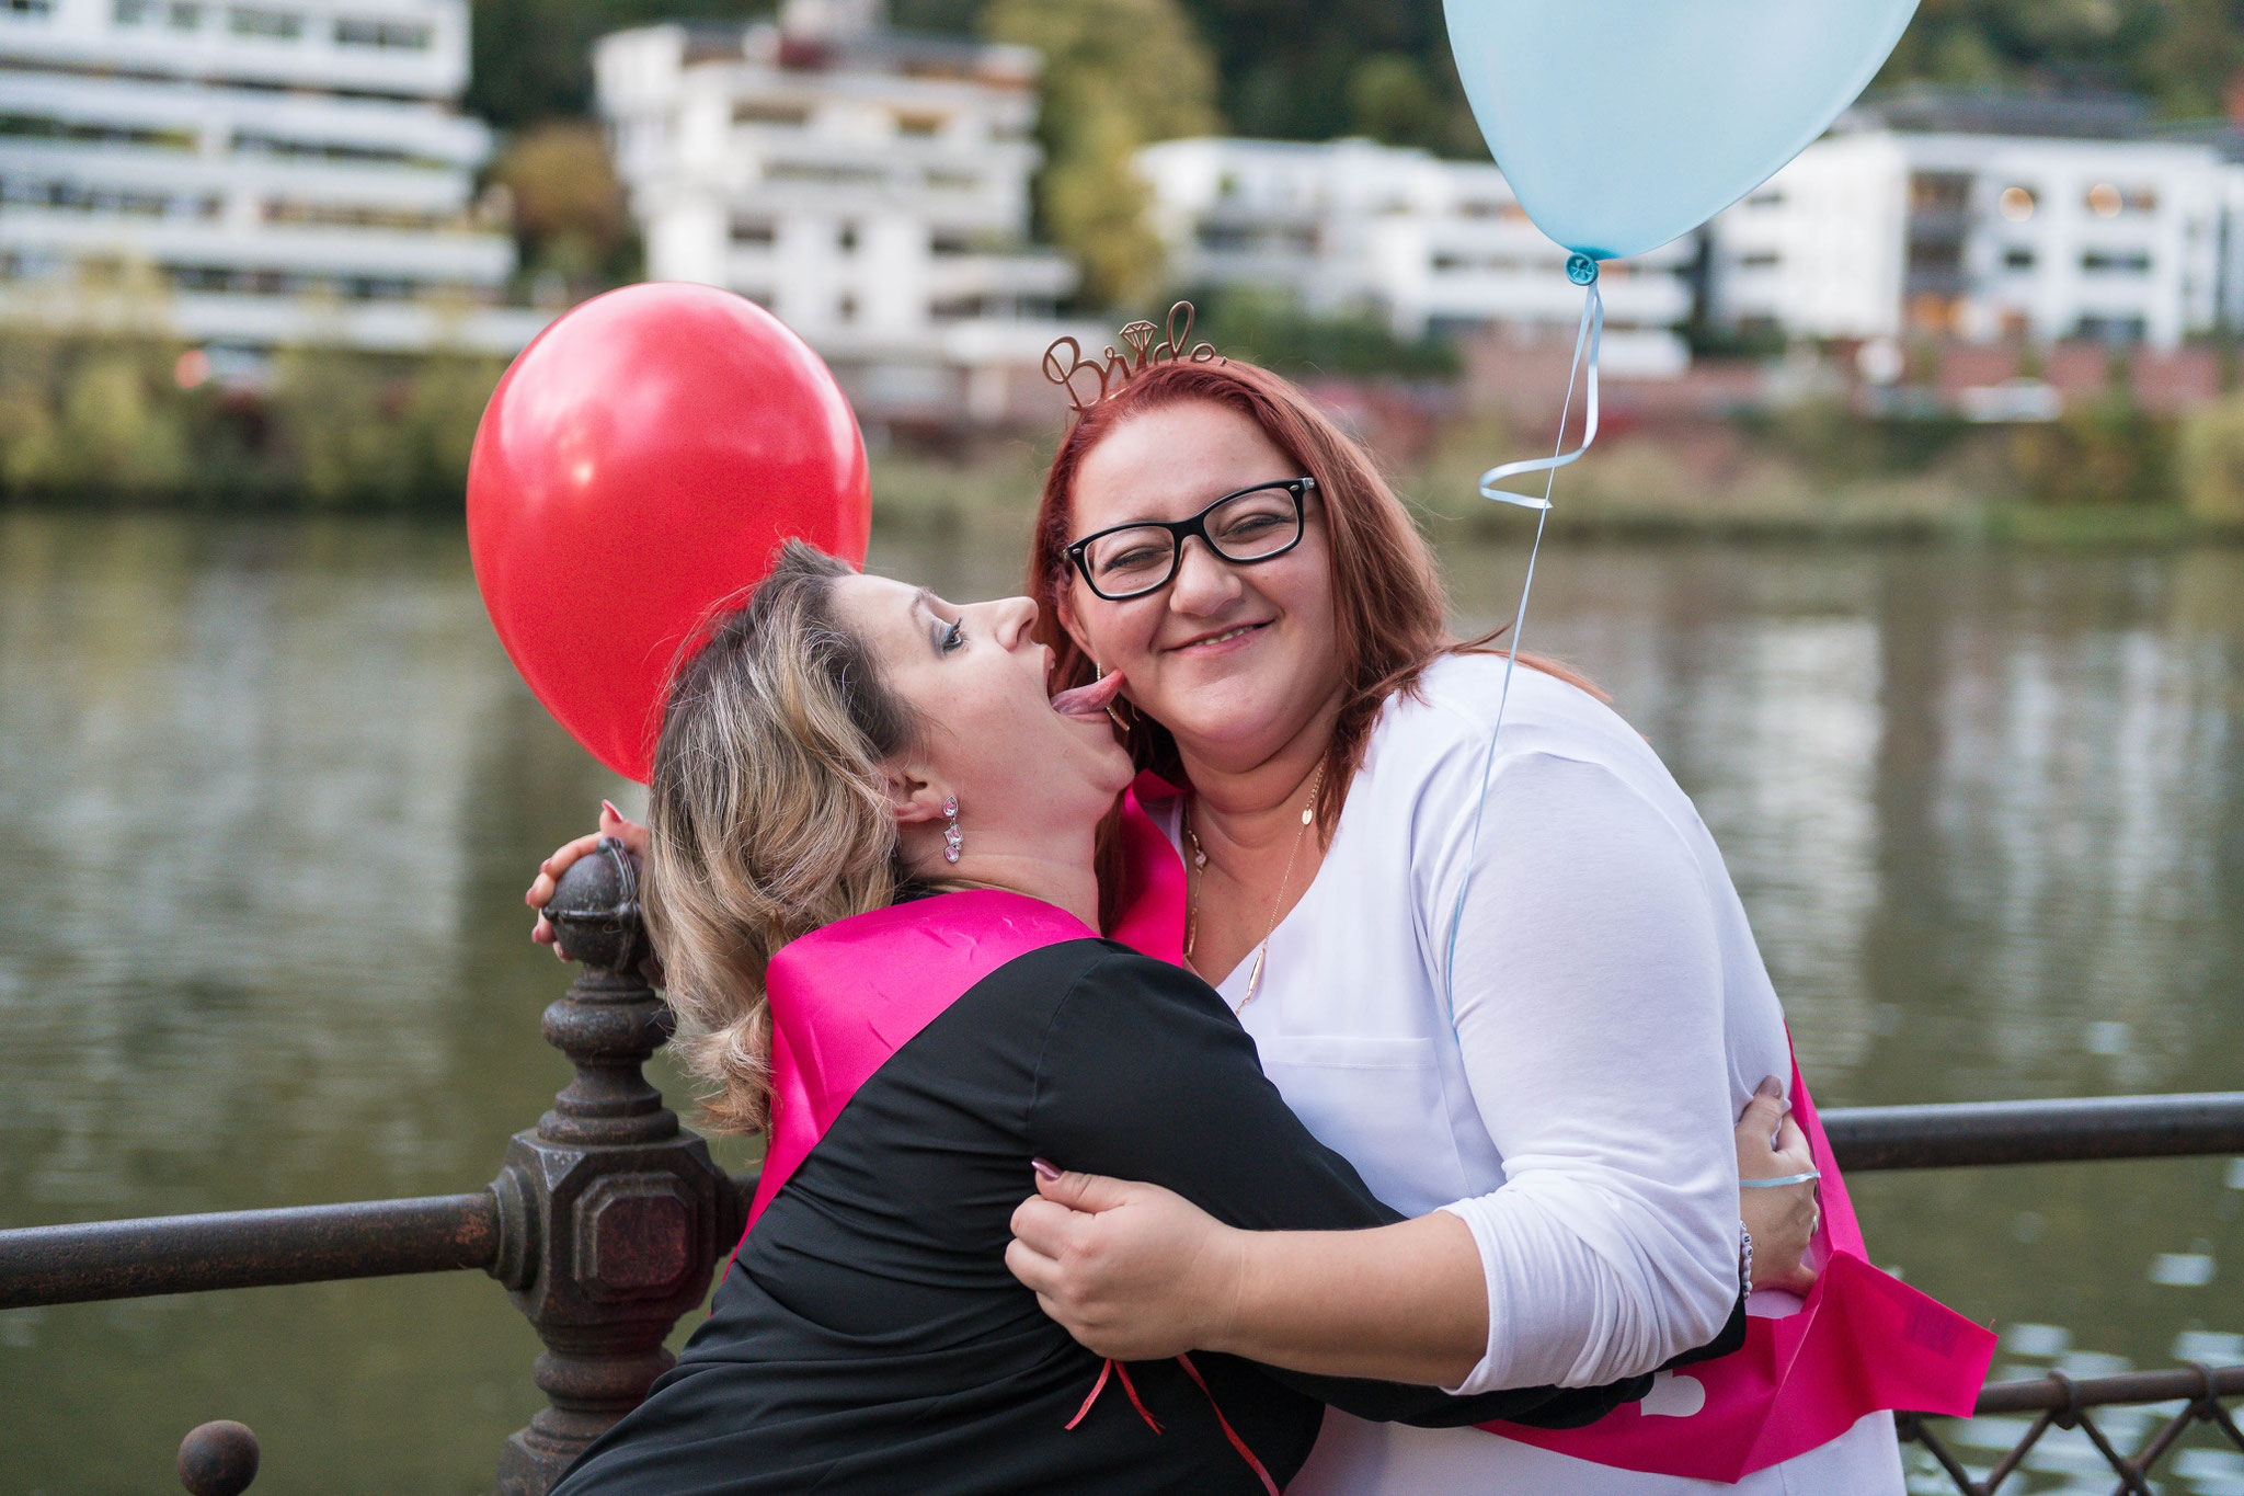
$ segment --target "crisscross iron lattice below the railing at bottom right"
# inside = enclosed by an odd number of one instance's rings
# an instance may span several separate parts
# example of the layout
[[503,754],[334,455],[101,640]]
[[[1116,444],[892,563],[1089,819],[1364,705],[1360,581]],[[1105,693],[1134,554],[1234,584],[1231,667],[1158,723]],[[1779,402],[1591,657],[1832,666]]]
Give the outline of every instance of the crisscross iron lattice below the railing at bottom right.
[[[2033,1382],[1993,1382],[1979,1393],[1977,1417],[1990,1417],[2002,1413],[2035,1413],[2033,1424],[1995,1465],[1986,1476],[1975,1478],[1964,1462],[1950,1449],[1955,1433],[1941,1438],[1934,1433],[1934,1420],[1925,1413],[1901,1413],[1896,1424],[1901,1426],[1901,1442],[1921,1444],[1939,1469],[1955,1483],[1957,1496],[1995,1496],[2006,1489],[2004,1483],[2011,1480],[2024,1465],[2033,1449],[2042,1442],[2051,1429],[2078,1429],[2087,1444],[2103,1458],[2103,1462],[2118,1478],[2112,1487],[2112,1496],[2159,1496],[2159,1487],[2152,1485],[2152,1476],[2159,1471],[2159,1462],[2172,1453],[2181,1438],[2190,1429],[2208,1429],[2228,1440],[2240,1456],[2244,1456],[2244,1431],[2237,1431],[2235,1417],[2231,1417],[2224,1400],[2244,1397],[2244,1366],[2201,1366],[2188,1361],[2174,1370],[2139,1370],[2118,1377],[2067,1377],[2060,1370],[2038,1377]],[[2139,1409],[2143,1404],[2181,1404],[2179,1413],[2170,1413],[2161,1426],[2156,1426],[2150,1438],[2136,1442],[2134,1453],[2121,1453],[2118,1442],[2105,1426],[2098,1426],[2089,1409]],[[2118,1420],[2107,1420],[2118,1422]],[[2132,1442],[2132,1440],[2130,1440]],[[2011,1487],[2024,1489],[2024,1485]],[[2085,1489],[2078,1480],[2069,1483],[2067,1489]]]

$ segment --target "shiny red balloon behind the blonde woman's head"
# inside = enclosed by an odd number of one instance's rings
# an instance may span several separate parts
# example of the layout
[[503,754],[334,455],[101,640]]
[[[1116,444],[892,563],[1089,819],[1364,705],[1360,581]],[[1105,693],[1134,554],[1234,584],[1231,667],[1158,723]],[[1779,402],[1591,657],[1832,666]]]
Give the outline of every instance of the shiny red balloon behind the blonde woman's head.
[[707,285],[565,312],[498,381],[467,467],[498,641],[561,727],[635,781],[711,606],[788,536],[862,563],[871,527],[864,437],[826,363]]

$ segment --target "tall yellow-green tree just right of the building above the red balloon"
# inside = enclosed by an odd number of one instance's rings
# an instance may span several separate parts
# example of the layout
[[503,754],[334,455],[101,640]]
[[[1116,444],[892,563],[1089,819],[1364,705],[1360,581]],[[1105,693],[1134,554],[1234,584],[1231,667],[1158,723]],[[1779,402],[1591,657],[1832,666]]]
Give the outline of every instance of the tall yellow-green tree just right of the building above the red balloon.
[[992,40],[1043,54],[1037,218],[1082,269],[1077,301],[1113,307],[1160,280],[1140,146],[1221,128],[1214,58],[1176,0],[992,0]]

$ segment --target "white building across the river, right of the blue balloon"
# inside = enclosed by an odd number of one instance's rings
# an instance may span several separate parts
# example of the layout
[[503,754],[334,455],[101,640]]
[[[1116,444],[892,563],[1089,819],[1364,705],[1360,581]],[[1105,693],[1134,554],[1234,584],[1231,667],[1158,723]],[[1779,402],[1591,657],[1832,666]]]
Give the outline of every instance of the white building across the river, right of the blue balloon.
[[2123,108],[1856,110],[1714,218],[1710,321],[2170,350],[2235,296],[2240,182],[2215,148],[2152,139]]

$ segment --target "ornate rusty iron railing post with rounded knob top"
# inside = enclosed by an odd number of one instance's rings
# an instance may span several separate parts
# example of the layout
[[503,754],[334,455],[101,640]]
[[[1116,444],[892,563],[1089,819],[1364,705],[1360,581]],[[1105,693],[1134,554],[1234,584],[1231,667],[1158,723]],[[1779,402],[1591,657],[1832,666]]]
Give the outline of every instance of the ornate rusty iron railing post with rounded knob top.
[[545,1009],[545,1041],[577,1077],[507,1146],[489,1272],[545,1341],[532,1375],[552,1406],[507,1440],[498,1496],[543,1496],[637,1406],[673,1361],[662,1339],[741,1231],[734,1182],[640,1072],[671,1012],[642,973],[637,868],[622,846],[572,866],[548,917],[586,967]]

